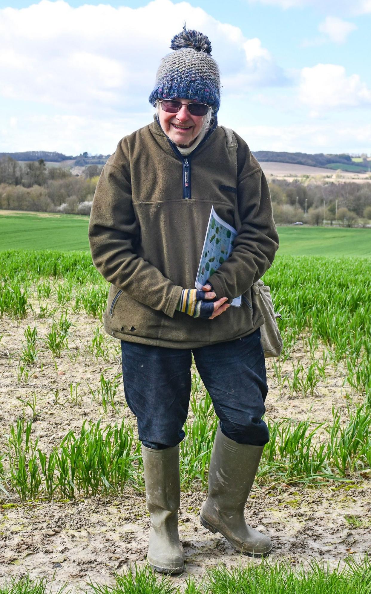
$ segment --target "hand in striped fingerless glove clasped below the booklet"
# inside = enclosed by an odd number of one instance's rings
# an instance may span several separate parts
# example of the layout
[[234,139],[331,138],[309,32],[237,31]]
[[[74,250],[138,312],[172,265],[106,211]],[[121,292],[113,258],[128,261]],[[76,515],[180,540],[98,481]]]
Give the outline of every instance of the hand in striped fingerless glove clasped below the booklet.
[[215,299],[216,295],[210,289],[210,285],[205,285],[202,290],[183,289],[176,309],[194,318],[213,320],[218,315],[223,314],[230,306],[226,303],[228,301],[227,297],[222,297],[213,302],[212,300]]

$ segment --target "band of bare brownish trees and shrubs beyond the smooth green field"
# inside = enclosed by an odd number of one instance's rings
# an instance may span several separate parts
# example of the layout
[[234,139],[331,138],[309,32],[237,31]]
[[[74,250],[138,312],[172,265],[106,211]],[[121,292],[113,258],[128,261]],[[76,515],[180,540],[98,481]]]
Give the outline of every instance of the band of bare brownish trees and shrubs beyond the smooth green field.
[[[0,158],[0,208],[90,214],[102,166],[88,165],[74,176],[61,166],[46,167],[43,159],[18,163]],[[367,225],[371,220],[371,183],[303,176],[302,181],[269,179],[274,220],[277,224],[307,222],[312,225]]]

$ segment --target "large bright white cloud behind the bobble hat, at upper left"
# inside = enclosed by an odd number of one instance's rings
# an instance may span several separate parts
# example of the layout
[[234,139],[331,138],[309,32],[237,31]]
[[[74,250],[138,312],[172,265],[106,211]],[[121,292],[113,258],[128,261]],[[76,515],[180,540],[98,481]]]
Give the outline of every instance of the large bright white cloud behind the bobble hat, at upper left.
[[286,82],[259,39],[187,2],[155,0],[133,10],[42,0],[7,8],[0,10],[0,96],[9,106],[0,114],[0,151],[113,151],[119,138],[151,121],[156,70],[185,14],[188,27],[211,39],[222,103]]

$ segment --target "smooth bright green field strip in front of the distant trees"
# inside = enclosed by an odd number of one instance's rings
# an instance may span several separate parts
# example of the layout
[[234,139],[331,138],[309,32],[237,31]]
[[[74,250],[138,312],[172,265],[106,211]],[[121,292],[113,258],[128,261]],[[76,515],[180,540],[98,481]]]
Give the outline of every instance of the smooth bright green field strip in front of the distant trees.
[[[0,210],[0,250],[89,249],[87,216],[7,214]],[[278,227],[281,255],[370,256],[371,229]]]

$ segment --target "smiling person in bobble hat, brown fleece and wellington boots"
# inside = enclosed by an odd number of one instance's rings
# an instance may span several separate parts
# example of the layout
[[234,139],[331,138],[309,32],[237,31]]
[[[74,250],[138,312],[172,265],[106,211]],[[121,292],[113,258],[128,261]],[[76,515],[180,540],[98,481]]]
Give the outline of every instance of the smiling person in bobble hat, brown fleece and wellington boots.
[[[107,333],[121,340],[125,397],[137,417],[152,530],[148,562],[180,573],[179,443],[192,353],[219,419],[201,523],[260,557],[268,536],[243,510],[268,429],[259,327],[251,287],[278,247],[268,184],[245,141],[218,126],[220,77],[198,31],[175,36],[158,68],[152,124],[119,141],[91,210],[93,261],[111,283]],[[232,254],[196,290],[211,207],[237,228]],[[241,307],[230,307],[242,295]]]

